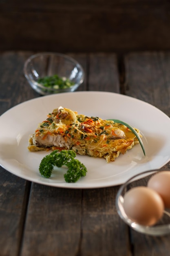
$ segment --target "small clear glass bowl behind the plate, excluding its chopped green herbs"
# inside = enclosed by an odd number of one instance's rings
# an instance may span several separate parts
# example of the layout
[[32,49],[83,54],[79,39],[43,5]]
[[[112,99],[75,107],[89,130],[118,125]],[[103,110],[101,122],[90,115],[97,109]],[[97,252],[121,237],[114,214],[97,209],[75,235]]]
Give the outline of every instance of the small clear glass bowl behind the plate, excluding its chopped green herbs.
[[[74,85],[65,89],[56,89],[37,82],[39,78],[54,74],[69,79]],[[67,55],[53,52],[31,55],[24,63],[24,75],[31,87],[42,95],[73,92],[84,81],[84,70],[77,61]]]

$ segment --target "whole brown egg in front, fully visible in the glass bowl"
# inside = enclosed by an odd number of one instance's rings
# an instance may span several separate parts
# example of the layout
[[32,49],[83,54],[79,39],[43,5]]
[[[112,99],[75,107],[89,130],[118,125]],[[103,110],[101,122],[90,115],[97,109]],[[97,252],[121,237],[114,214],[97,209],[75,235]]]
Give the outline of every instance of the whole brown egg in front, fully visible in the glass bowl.
[[124,195],[123,205],[128,218],[146,226],[154,225],[161,219],[164,210],[159,194],[145,186],[130,189]]

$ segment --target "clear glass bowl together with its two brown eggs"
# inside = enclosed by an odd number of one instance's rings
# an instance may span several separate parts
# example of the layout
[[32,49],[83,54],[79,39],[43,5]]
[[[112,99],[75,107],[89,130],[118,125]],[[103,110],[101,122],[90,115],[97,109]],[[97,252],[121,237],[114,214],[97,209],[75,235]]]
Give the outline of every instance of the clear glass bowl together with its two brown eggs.
[[117,212],[139,233],[170,234],[170,170],[152,170],[131,177],[116,196]]

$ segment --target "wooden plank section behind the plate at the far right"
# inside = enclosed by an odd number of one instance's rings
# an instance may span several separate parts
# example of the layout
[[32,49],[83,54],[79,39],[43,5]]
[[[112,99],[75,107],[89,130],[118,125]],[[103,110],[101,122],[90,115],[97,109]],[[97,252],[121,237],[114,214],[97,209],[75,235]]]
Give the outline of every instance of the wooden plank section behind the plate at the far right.
[[170,53],[143,52],[125,57],[125,93],[170,117]]

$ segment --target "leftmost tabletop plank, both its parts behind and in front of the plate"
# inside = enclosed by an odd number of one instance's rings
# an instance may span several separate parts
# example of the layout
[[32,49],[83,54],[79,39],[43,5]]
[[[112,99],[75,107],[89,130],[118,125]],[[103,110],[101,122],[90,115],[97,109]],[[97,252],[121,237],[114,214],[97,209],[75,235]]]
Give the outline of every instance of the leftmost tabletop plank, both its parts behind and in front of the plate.
[[[23,76],[29,53],[0,53],[0,115],[25,100],[36,97]],[[38,95],[38,94],[37,94]],[[4,124],[1,124],[4,125]],[[18,256],[29,196],[30,182],[0,166],[0,255]]]

